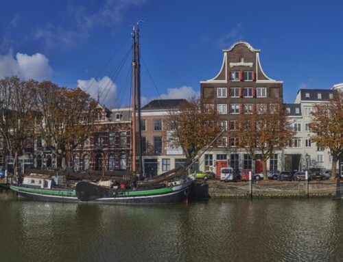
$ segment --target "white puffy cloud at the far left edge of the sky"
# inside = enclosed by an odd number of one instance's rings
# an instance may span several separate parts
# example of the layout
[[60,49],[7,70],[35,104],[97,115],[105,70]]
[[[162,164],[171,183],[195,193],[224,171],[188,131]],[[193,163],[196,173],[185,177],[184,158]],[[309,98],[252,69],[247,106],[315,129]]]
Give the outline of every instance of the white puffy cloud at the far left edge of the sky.
[[12,52],[0,55],[0,78],[14,75],[23,79],[36,79],[37,81],[49,80],[53,70],[49,66],[49,60],[41,53],[27,55]]

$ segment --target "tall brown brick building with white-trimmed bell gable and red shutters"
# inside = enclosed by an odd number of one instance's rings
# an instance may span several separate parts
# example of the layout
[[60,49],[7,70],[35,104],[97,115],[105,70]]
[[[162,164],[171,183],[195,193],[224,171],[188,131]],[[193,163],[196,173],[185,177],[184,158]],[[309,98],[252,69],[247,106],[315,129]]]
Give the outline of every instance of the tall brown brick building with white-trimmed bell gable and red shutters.
[[[222,146],[204,155],[204,161],[200,163],[202,170],[218,172],[223,161],[228,161],[233,168],[261,170],[261,163],[252,161],[246,152],[237,150],[236,137],[230,136],[239,114],[252,112],[254,107],[267,101],[283,100],[283,81],[271,79],[263,72],[260,51],[248,42],[235,42],[223,50],[224,59],[219,73],[213,79],[200,81],[201,98],[222,114],[221,125],[227,130]],[[275,165],[277,156],[276,159],[272,156],[268,166]]]

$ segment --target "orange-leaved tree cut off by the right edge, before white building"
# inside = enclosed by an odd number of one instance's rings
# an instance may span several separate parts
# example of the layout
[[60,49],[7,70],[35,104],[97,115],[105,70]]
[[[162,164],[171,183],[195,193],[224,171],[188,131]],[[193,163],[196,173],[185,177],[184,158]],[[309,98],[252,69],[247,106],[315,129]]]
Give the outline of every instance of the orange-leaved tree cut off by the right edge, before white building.
[[343,92],[337,92],[332,99],[314,105],[311,116],[311,141],[321,148],[329,148],[332,156],[331,179],[334,179],[338,159],[343,157]]

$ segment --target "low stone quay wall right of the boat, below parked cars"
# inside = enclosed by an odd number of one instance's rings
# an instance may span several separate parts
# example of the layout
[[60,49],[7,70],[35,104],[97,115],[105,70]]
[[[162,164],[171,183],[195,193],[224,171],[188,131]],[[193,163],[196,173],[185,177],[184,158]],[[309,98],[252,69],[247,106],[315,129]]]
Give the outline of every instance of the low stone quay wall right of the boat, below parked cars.
[[332,198],[336,194],[336,181],[267,181],[224,183],[197,181],[196,197],[225,198]]

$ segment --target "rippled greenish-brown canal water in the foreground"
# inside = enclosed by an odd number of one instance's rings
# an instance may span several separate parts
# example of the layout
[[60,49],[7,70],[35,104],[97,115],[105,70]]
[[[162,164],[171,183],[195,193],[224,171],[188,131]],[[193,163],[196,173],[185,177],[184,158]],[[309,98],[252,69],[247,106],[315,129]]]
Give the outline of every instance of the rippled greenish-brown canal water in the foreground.
[[342,261],[343,200],[170,206],[17,199],[0,189],[0,261]]

